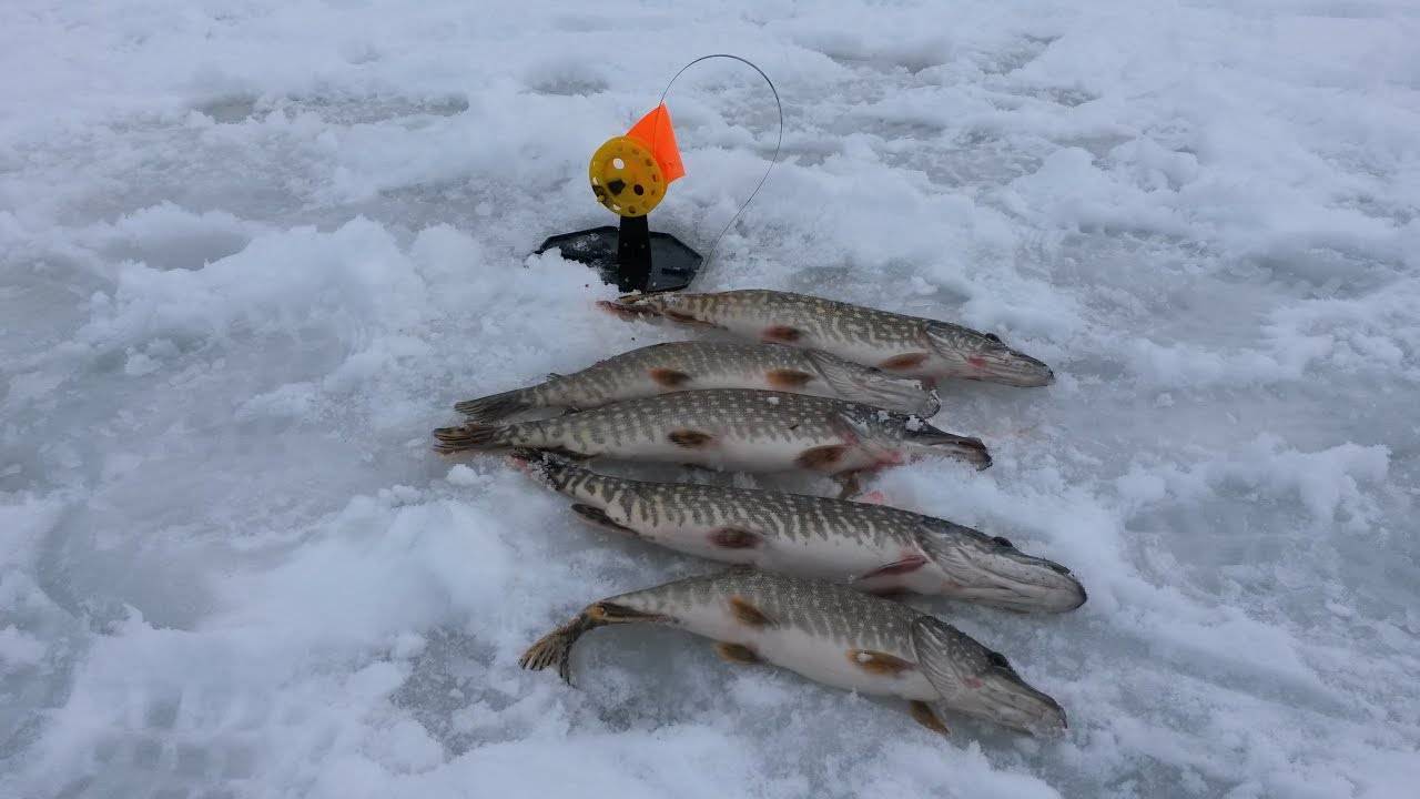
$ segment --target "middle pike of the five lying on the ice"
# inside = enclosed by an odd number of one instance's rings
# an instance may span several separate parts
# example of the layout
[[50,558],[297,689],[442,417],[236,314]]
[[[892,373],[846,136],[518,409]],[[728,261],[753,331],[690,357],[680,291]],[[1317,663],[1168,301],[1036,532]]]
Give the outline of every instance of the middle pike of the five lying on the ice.
[[936,454],[991,465],[980,439],[916,417],[785,394],[719,388],[626,400],[552,419],[435,431],[437,449],[532,448],[743,472],[855,473]]

